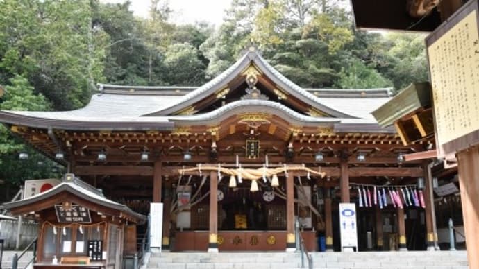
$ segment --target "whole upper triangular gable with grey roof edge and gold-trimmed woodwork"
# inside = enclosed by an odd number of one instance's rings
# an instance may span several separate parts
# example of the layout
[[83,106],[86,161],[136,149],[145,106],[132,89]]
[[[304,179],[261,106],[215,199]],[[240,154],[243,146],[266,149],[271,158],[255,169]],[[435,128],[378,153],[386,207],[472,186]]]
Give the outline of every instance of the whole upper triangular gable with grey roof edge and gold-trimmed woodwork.
[[[329,107],[317,96],[310,94],[285,78],[274,67],[271,67],[255,49],[251,49],[240,60],[210,82],[180,98],[174,105],[151,112],[148,115],[195,114],[215,103],[216,99],[226,97],[235,88],[240,88],[240,91],[244,90],[241,85],[245,80],[251,87],[257,84],[262,85],[267,92],[276,95],[284,103],[292,105],[296,111],[303,111],[308,114],[323,114],[336,118],[355,118],[351,114]],[[265,92],[260,91],[258,94],[262,95]]]

